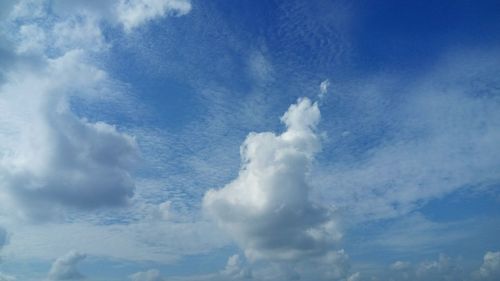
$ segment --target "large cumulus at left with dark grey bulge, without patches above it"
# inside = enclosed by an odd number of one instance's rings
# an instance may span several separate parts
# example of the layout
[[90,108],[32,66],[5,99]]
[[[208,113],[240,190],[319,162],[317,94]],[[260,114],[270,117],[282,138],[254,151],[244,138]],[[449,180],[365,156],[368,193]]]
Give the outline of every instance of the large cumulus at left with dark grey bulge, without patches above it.
[[38,216],[53,203],[94,208],[124,204],[132,195],[134,139],[70,110],[71,95],[98,94],[105,80],[81,52],[48,60],[43,71],[11,73],[0,90],[5,208],[21,203],[23,215]]

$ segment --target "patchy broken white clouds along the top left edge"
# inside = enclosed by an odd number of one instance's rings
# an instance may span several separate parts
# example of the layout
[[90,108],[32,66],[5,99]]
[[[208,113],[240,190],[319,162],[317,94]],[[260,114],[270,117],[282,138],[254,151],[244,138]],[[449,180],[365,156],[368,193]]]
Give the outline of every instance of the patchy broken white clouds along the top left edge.
[[[41,51],[41,47],[101,51],[107,47],[103,23],[130,32],[155,19],[186,15],[192,8],[189,0],[21,0],[11,6],[7,5],[6,18],[30,27],[21,29],[21,52]],[[51,40],[45,40],[49,38],[45,33]]]

